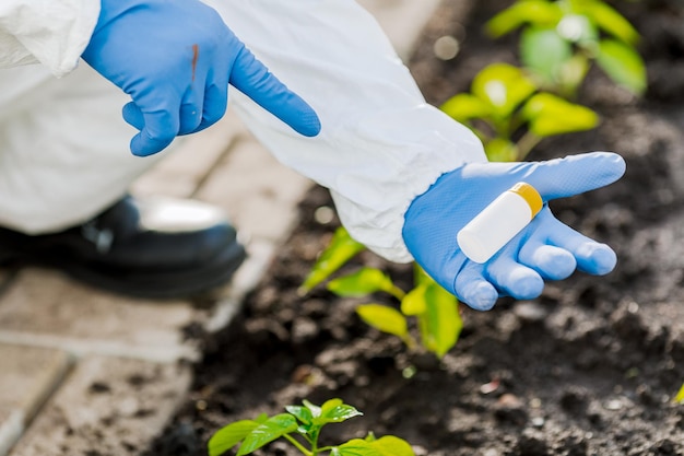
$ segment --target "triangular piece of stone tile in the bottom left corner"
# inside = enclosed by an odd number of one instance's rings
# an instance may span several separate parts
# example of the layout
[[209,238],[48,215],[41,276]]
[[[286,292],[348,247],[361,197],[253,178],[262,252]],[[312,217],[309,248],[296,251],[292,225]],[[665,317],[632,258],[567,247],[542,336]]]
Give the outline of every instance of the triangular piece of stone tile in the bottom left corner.
[[0,456],[55,390],[70,365],[60,350],[0,343]]

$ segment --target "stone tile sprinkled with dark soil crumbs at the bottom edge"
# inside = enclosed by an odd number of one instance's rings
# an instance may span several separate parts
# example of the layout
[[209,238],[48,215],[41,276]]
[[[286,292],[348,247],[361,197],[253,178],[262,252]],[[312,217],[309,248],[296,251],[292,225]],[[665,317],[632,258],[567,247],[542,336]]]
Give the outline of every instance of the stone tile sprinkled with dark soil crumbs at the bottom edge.
[[10,456],[140,455],[189,388],[189,366],[87,358]]

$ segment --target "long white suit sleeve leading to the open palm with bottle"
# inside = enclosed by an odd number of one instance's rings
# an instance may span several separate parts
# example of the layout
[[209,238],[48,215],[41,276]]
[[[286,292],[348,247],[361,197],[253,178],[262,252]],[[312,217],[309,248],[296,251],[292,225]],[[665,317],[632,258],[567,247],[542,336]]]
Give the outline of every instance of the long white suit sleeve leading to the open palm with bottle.
[[322,125],[318,137],[299,137],[233,90],[250,130],[279,161],[331,190],[355,239],[387,259],[410,261],[401,232],[411,201],[441,174],[486,161],[480,140],[425,103],[377,22],[354,1],[214,7]]

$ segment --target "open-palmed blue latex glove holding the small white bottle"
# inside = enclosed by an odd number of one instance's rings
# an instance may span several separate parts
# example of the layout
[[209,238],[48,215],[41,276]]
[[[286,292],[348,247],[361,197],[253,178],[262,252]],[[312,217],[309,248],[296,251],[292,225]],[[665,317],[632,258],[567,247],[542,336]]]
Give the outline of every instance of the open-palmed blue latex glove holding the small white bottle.
[[[561,223],[546,202],[609,185],[625,172],[614,153],[593,152],[547,162],[471,163],[439,177],[413,200],[405,213],[403,238],[416,262],[441,287],[475,309],[496,300],[539,296],[544,280],[561,280],[575,269],[605,274],[615,253]],[[527,182],[544,208],[516,237],[485,264],[469,260],[456,235],[499,194]]]

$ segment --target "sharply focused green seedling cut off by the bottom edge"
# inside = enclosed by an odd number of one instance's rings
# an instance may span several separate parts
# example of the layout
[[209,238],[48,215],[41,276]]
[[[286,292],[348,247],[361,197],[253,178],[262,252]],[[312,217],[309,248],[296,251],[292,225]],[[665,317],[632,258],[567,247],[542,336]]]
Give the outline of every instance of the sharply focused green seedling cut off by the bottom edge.
[[237,446],[236,455],[249,455],[264,445],[284,439],[305,456],[415,456],[411,445],[393,435],[376,439],[353,439],[337,446],[319,446],[322,428],[340,423],[363,413],[340,399],[330,399],[322,406],[308,400],[303,406],[285,407],[287,413],[268,417],[262,413],[255,420],[240,420],[220,429],[209,440],[209,456],[221,456]]

